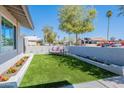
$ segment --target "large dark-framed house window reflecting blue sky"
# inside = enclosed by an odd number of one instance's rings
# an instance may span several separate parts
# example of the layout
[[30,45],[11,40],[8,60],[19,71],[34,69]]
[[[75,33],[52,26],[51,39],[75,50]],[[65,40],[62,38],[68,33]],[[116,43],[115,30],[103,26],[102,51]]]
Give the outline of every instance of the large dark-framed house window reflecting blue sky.
[[16,48],[16,31],[12,23],[2,17],[2,42],[1,52],[7,52]]

